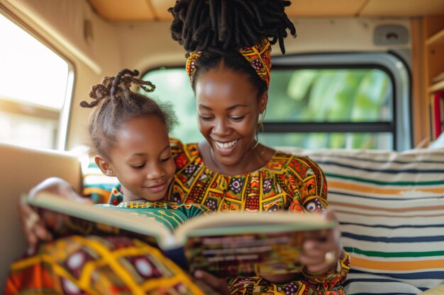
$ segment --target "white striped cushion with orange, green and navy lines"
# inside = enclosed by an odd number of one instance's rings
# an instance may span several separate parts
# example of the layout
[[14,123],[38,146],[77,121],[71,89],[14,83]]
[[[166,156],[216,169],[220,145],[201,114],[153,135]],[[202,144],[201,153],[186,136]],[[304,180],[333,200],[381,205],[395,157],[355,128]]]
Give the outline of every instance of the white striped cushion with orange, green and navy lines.
[[281,149],[310,156],[351,255],[347,294],[418,294],[444,284],[444,149]]

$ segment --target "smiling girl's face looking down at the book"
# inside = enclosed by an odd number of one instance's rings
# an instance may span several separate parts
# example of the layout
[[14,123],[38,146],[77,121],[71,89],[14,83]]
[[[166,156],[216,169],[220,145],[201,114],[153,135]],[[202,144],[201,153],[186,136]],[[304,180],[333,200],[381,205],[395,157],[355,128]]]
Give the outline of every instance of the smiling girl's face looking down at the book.
[[[123,201],[157,201],[167,194],[176,166],[167,128],[159,117],[126,122],[116,132],[109,158],[106,164],[122,185]],[[107,174],[106,169],[102,171]]]

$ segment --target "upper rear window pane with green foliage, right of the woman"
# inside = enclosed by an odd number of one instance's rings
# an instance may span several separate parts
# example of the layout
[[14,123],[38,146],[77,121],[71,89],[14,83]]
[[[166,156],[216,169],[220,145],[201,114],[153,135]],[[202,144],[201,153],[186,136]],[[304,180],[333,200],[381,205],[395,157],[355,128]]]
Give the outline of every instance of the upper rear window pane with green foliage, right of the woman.
[[392,121],[392,83],[380,69],[276,69],[268,96],[266,121]]

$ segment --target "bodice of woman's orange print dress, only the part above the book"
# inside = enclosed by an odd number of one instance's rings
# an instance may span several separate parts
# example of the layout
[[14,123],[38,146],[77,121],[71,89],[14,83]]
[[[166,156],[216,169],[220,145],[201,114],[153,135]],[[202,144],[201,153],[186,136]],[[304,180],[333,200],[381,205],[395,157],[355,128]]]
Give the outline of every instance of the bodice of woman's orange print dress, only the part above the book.
[[277,151],[259,170],[223,175],[205,166],[197,144],[170,142],[177,166],[173,202],[204,204],[213,211],[321,212],[327,207],[325,177],[310,158]]

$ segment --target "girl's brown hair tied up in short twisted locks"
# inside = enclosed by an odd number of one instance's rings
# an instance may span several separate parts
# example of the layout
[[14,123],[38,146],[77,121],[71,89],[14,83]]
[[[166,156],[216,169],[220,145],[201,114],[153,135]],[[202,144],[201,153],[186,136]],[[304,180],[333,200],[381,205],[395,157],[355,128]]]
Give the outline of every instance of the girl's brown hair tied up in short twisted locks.
[[97,106],[89,120],[91,153],[109,158],[107,151],[115,142],[116,132],[135,117],[157,116],[165,123],[168,132],[177,125],[177,117],[170,103],[159,105],[152,98],[131,91],[132,84],[146,92],[155,90],[155,85],[150,81],[136,79],[138,74],[137,70],[123,69],[116,77],[105,77],[101,84],[92,86],[89,91],[89,96],[94,100],[80,103],[82,108]]

